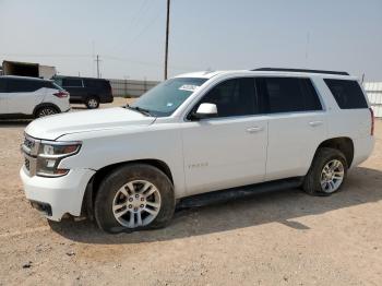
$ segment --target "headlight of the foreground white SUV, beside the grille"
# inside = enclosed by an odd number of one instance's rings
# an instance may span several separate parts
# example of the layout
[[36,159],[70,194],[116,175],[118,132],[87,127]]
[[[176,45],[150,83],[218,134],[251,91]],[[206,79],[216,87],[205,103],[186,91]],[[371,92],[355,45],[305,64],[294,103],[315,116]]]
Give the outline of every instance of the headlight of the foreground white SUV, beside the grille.
[[43,177],[60,177],[69,169],[59,169],[61,159],[79,153],[81,142],[47,142],[43,141],[37,154],[36,175]]

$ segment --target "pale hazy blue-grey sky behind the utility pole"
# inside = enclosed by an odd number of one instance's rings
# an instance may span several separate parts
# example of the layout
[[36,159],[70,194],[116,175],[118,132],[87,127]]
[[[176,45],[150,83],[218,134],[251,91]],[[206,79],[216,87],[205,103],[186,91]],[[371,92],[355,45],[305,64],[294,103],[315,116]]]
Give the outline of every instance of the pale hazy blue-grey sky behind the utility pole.
[[[0,61],[163,80],[167,0],[0,0]],[[169,75],[261,67],[382,81],[382,0],[171,0]]]

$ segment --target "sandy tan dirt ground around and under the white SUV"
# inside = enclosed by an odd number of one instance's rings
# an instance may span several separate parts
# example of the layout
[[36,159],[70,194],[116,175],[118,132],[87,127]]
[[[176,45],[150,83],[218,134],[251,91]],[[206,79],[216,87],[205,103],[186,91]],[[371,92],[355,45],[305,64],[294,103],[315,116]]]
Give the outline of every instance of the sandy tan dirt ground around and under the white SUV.
[[382,121],[373,155],[337,194],[259,194],[117,236],[87,221],[48,224],[31,207],[19,178],[25,126],[0,123],[0,285],[382,285]]

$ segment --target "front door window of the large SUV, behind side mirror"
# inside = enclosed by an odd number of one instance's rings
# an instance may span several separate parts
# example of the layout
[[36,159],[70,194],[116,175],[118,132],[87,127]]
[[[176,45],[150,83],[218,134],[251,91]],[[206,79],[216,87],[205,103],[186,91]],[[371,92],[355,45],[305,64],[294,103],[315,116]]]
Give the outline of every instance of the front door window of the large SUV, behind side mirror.
[[218,117],[255,115],[259,114],[255,102],[254,79],[234,79],[213,87],[193,111],[201,104],[208,103],[216,105]]

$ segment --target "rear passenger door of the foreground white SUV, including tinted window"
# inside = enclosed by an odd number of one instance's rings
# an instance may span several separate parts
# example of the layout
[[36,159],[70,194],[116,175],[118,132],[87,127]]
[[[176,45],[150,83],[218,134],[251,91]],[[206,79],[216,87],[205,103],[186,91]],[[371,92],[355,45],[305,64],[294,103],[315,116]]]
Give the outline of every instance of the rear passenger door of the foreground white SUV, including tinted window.
[[259,78],[268,115],[265,180],[305,176],[326,136],[321,100],[310,79]]

